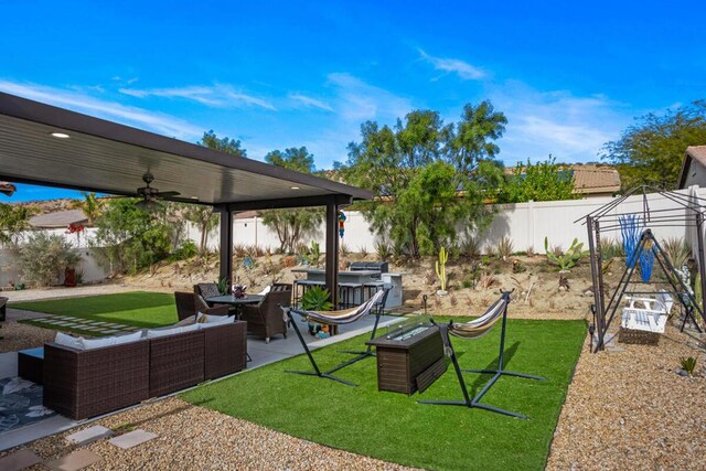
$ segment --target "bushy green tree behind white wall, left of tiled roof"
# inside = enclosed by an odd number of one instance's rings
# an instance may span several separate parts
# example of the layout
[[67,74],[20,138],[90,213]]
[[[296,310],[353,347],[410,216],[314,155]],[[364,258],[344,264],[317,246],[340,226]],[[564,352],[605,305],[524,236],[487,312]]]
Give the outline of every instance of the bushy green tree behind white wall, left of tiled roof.
[[517,163],[513,174],[498,195],[499,203],[525,203],[527,201],[577,200],[574,193],[574,174],[556,163],[549,156],[544,162]]

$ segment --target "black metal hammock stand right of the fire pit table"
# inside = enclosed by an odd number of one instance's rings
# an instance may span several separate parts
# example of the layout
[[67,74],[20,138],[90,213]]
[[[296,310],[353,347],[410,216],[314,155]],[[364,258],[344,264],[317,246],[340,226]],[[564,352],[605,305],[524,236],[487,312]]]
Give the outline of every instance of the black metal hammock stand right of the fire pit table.
[[[453,363],[453,370],[456,371],[456,376],[459,381],[459,386],[461,387],[461,393],[463,394],[463,400],[418,400],[419,404],[429,404],[436,406],[461,406],[469,408],[478,408],[490,410],[492,413],[503,414],[505,416],[517,417],[521,419],[526,419],[527,416],[513,413],[512,410],[501,409],[500,407],[490,406],[488,404],[481,404],[480,400],[483,398],[485,393],[490,390],[491,387],[501,378],[501,376],[515,376],[523,377],[527,379],[536,379],[536,381],[546,381],[545,377],[528,375],[525,373],[510,372],[505,370],[504,363],[504,352],[505,352],[505,327],[507,321],[507,304],[510,303],[510,293],[511,291],[503,291],[501,300],[504,301],[505,306],[503,308],[502,314],[502,328],[500,332],[500,352],[498,354],[498,368],[495,370],[461,370],[459,366],[459,361],[456,355],[456,350],[453,350],[453,344],[451,343],[451,338],[449,336],[449,329],[452,328],[452,323],[441,324],[439,325],[439,331],[441,333],[441,339],[443,340],[445,346],[449,349],[451,352],[451,363]],[[432,321],[434,322],[434,321]],[[480,374],[492,374],[493,377],[485,384],[485,386],[474,396],[468,392],[468,387],[466,386],[466,381],[463,379],[463,373],[480,373]]]

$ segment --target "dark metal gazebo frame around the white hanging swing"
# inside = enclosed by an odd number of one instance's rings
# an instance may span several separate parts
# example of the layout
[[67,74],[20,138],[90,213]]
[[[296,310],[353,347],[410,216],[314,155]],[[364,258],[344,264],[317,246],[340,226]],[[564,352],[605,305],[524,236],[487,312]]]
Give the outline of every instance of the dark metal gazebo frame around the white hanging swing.
[[[649,193],[651,192],[651,193]],[[634,264],[625,264],[625,269],[620,278],[620,282],[616,287],[610,297],[606,296],[606,285],[603,282],[602,270],[602,248],[601,248],[601,233],[607,231],[614,231],[620,227],[620,217],[634,215],[635,213],[620,213],[613,212],[618,206],[625,202],[629,196],[642,194],[642,224],[645,231],[640,236],[640,240],[632,254],[632,261]],[[676,205],[671,208],[650,210],[649,195],[661,195]],[[706,322],[706,296],[702,298],[702,304],[698,306],[694,295],[689,292],[688,287],[684,285],[682,279],[675,276],[675,267],[668,259],[666,254],[662,250],[660,244],[656,242],[652,234],[652,228],[655,227],[693,227],[696,229],[697,244],[696,247],[692,247],[692,253],[696,256],[696,265],[698,267],[698,274],[700,275],[700,288],[702,292],[706,293],[706,260],[704,257],[704,218],[706,216],[706,199],[698,195],[685,195],[682,193],[656,189],[650,185],[637,186],[623,195],[614,199],[610,203],[590,212],[585,217],[575,221],[575,223],[584,221],[588,231],[588,247],[590,250],[590,265],[591,265],[591,279],[593,285],[593,319],[595,319],[595,332],[598,334],[598,341],[596,343],[595,351],[605,350],[605,339],[608,328],[610,327],[616,311],[620,306],[623,295],[627,291],[628,286],[631,282],[632,275],[637,268],[637,260],[644,250],[653,250],[657,266],[664,271],[667,281],[661,282],[664,285],[671,285],[675,291],[688,298],[689,304],[697,310],[704,322]],[[627,260],[629,261],[629,260]],[[630,267],[632,265],[632,268]],[[656,293],[656,292],[655,292]],[[692,321],[698,329],[696,319],[693,317],[693,312],[683,299],[683,296],[677,296],[678,301],[684,304],[685,319],[682,324],[682,329],[686,323],[687,318],[691,315]],[[608,303],[606,303],[606,299]]]

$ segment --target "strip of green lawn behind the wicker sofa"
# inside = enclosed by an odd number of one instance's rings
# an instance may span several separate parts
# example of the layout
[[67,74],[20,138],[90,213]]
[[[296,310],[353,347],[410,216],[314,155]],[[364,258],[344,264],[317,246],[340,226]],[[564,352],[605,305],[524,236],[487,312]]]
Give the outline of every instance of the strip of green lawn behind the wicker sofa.
[[[24,309],[49,314],[72,315],[94,321],[116,322],[138,328],[157,328],[176,322],[174,296],[164,292],[121,292],[117,295],[88,296],[47,301],[28,301],[10,304],[15,309]],[[32,321],[25,321],[33,323]],[[50,328],[47,324],[39,324]],[[66,328],[56,327],[58,330]],[[76,331],[79,332],[79,331]],[[86,332],[90,335],[96,333]]]

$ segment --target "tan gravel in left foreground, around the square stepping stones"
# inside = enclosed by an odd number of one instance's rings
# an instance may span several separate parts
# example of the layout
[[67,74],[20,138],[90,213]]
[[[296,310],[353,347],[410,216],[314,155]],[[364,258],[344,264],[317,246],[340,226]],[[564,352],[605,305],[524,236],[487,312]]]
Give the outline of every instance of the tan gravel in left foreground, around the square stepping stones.
[[[129,450],[107,440],[87,448],[103,459],[86,470],[404,470],[398,464],[336,450],[193,406],[181,399],[143,405],[29,445],[43,459],[74,451],[64,439],[93,425],[128,431],[141,428],[158,438]],[[19,448],[18,448],[19,449]],[[18,449],[10,450],[17,451]],[[0,457],[7,453],[0,453]],[[43,465],[29,468],[44,470]]]

